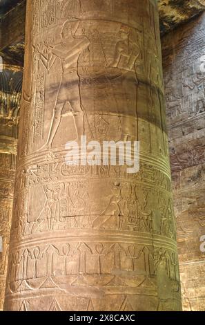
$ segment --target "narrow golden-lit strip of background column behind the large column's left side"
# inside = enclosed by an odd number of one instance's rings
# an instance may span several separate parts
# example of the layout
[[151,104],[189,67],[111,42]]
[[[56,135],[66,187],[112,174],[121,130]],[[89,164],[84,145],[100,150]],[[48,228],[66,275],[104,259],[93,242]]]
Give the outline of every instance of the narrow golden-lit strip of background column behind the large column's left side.
[[0,251],[0,310],[3,310],[23,73],[16,66],[0,66],[0,69],[0,236],[3,243]]

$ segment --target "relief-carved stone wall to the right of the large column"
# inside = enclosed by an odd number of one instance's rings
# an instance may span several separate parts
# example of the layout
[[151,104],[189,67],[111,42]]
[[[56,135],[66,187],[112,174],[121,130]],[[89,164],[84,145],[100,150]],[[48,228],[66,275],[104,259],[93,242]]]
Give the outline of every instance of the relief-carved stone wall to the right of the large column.
[[184,310],[205,309],[205,15],[163,38]]

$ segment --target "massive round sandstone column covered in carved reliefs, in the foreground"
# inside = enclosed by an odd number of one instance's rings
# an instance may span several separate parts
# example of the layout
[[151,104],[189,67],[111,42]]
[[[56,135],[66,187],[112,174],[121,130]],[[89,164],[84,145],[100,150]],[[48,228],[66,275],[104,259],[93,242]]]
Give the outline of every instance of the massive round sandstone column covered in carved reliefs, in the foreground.
[[[27,6],[5,309],[180,310],[157,1]],[[139,173],[66,165],[81,136],[139,140]]]

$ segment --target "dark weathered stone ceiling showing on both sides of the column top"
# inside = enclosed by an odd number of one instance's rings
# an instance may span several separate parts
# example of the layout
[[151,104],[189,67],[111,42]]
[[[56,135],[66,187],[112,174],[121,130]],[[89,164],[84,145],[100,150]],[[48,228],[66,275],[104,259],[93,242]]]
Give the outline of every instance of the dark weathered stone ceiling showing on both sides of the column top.
[[[158,0],[158,3],[162,35],[205,10],[205,0]],[[25,16],[26,0],[0,0],[0,55],[6,64],[23,66]]]

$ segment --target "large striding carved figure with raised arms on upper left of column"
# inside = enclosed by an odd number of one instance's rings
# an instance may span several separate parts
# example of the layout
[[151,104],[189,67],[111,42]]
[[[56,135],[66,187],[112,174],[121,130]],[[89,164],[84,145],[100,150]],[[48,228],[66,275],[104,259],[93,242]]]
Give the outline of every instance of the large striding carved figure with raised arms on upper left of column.
[[79,130],[84,129],[84,109],[81,104],[81,96],[79,90],[79,74],[78,74],[78,59],[79,55],[85,50],[90,41],[85,35],[75,36],[75,32],[79,27],[79,21],[72,20],[66,21],[61,30],[61,43],[57,46],[50,48],[50,55],[48,59],[40,53],[38,46],[37,51],[40,54],[41,62],[47,68],[49,73],[52,66],[55,64],[56,59],[61,60],[61,81],[57,91],[55,100],[55,107],[50,124],[50,131],[46,144],[41,147],[42,149],[50,149],[52,141],[55,138],[57,129],[63,116],[65,106],[68,104],[70,109],[64,113],[74,117],[75,129],[77,139],[80,139],[81,134]]

